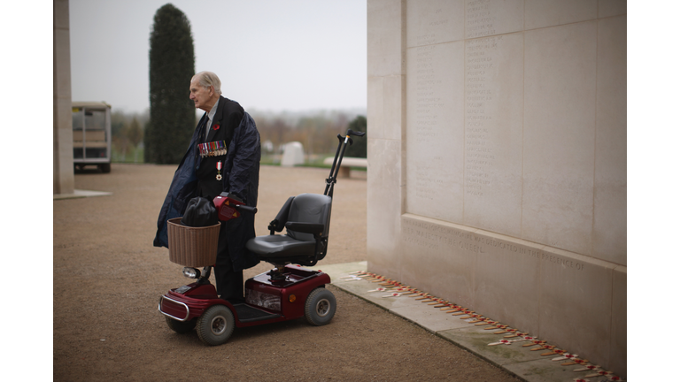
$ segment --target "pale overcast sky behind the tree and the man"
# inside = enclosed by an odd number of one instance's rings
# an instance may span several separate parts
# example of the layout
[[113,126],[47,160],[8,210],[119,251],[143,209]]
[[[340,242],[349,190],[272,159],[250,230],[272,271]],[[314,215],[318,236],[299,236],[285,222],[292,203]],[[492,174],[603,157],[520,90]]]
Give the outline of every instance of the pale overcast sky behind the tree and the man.
[[73,101],[149,107],[149,34],[168,3],[191,23],[196,71],[246,111],[366,108],[366,0],[71,0]]

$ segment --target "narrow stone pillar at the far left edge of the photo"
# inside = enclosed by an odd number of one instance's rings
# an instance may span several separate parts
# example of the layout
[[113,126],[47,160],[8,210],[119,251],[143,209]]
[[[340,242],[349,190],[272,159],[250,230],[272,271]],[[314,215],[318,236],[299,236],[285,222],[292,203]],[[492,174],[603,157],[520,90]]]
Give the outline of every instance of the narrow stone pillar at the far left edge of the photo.
[[54,0],[53,193],[73,194],[73,122],[71,116],[71,49],[68,0]]

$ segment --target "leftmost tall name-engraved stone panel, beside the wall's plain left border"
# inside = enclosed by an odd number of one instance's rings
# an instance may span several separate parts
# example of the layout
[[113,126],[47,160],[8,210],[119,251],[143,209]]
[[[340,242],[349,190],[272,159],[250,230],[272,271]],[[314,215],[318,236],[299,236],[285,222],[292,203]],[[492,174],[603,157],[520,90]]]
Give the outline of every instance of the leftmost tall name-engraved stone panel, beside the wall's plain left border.
[[464,171],[463,47],[460,41],[407,51],[406,210],[456,222]]

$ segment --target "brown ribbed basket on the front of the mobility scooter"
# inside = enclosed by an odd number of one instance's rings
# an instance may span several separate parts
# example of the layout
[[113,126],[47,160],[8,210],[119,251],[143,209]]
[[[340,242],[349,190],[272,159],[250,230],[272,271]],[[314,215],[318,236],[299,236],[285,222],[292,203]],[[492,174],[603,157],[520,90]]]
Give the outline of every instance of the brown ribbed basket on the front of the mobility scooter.
[[180,224],[182,218],[167,221],[167,248],[170,261],[190,267],[214,265],[217,260],[217,241],[220,223],[205,227]]

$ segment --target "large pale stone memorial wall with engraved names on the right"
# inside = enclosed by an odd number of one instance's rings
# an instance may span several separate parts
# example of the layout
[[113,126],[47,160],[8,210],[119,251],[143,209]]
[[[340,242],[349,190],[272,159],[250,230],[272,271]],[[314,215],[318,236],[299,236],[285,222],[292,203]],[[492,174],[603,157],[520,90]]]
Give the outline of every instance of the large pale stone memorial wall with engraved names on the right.
[[626,373],[626,2],[368,0],[368,268]]

